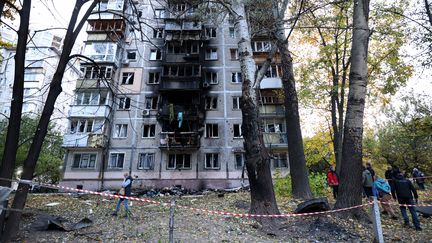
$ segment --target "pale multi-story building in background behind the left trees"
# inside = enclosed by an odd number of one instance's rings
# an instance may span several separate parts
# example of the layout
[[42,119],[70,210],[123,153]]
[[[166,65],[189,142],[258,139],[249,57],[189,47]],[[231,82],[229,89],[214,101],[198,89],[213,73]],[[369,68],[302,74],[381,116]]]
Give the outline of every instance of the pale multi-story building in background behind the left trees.
[[[14,45],[16,34],[2,29],[2,37],[6,42]],[[7,38],[6,38],[7,37]],[[48,95],[49,84],[54,75],[61,54],[62,38],[50,32],[36,32],[32,34],[25,60],[24,74],[24,103],[23,114],[37,116],[42,111],[44,101]],[[15,48],[2,47],[0,49],[0,119],[9,117],[10,102],[15,70]],[[64,74],[63,92],[57,99],[52,121],[58,129],[65,130],[67,124],[67,112],[73,96],[73,88],[78,77],[79,70],[71,63]]]

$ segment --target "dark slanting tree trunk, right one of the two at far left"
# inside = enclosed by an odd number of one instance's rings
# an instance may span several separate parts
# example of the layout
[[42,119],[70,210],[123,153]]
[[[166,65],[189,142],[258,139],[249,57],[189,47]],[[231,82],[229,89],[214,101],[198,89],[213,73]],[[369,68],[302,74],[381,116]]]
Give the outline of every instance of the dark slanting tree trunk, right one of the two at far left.
[[[58,95],[62,91],[61,82],[63,79],[63,74],[66,70],[66,67],[69,62],[70,53],[72,51],[72,47],[75,43],[75,40],[78,36],[79,31],[81,30],[82,26],[85,23],[85,20],[90,15],[91,10],[96,6],[96,4],[99,2],[98,0],[93,1],[90,8],[87,10],[87,12],[84,14],[83,19],[78,23],[76,29],[74,30],[74,27],[77,23],[78,14],[80,12],[80,9],[82,5],[85,3],[85,0],[77,0],[75,3],[74,10],[72,12],[72,16],[69,22],[69,26],[66,32],[66,36],[64,39],[64,48],[63,52],[60,56],[60,60],[58,62],[58,66],[56,69],[56,72],[54,73],[53,80],[50,84],[49,93],[47,96],[47,99],[45,101],[45,105],[42,111],[41,118],[39,120],[39,124],[37,126],[37,129],[35,131],[35,135],[33,137],[32,144],[30,146],[29,152],[27,154],[27,158],[24,161],[23,166],[23,174],[22,179],[24,180],[32,180],[33,179],[33,173],[36,168],[36,163],[39,158],[40,150],[43,144],[43,141],[45,139],[45,136],[47,134],[48,125],[50,122],[51,115],[54,110],[55,102],[57,100]],[[25,206],[25,202],[27,199],[27,194],[29,190],[29,185],[27,184],[19,184],[18,190],[15,194],[14,201],[12,204],[12,208],[14,209],[23,209]],[[19,230],[19,223],[21,219],[21,212],[11,212],[9,215],[9,218],[6,222],[5,226],[5,232],[1,238],[2,242],[10,241],[15,235],[18,233]]]

